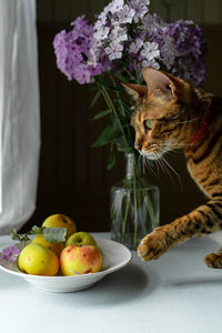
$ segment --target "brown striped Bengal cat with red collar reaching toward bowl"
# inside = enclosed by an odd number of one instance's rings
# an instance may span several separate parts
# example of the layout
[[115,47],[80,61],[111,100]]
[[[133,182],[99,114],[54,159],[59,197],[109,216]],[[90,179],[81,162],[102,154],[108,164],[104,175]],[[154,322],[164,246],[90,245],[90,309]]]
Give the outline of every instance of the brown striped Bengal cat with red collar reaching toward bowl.
[[[142,75],[147,85],[124,84],[135,101],[134,148],[150,160],[183,149],[191,176],[209,198],[142,239],[138,254],[150,261],[191,238],[222,230],[222,99],[164,71],[144,68]],[[221,269],[222,250],[204,262]]]

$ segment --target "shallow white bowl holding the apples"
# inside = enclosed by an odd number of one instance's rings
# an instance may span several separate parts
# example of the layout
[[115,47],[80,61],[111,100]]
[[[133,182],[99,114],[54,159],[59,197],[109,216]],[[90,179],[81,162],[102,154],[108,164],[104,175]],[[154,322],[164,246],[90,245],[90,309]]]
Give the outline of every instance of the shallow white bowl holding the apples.
[[103,254],[102,270],[98,273],[74,276],[30,275],[19,271],[17,264],[3,260],[1,258],[1,253],[0,269],[9,274],[22,278],[36,287],[48,292],[77,292],[90,287],[95,282],[103,279],[107,274],[124,268],[131,261],[131,252],[124,245],[101,238],[95,238],[95,241],[98,243],[98,248]]

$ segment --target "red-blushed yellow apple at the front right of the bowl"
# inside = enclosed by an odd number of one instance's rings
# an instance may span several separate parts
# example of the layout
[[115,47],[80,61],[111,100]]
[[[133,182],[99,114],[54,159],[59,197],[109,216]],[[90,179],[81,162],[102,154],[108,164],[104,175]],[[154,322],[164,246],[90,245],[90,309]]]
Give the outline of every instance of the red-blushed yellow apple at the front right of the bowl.
[[60,268],[63,275],[97,273],[102,266],[102,253],[94,245],[70,245],[60,254]]

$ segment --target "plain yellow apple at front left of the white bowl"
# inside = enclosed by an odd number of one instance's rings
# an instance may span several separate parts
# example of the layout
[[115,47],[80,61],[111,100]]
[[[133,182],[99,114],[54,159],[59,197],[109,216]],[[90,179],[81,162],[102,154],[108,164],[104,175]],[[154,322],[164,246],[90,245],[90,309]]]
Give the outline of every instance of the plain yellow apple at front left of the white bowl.
[[19,269],[32,275],[54,276],[59,271],[59,259],[49,249],[38,243],[24,246],[19,255]]

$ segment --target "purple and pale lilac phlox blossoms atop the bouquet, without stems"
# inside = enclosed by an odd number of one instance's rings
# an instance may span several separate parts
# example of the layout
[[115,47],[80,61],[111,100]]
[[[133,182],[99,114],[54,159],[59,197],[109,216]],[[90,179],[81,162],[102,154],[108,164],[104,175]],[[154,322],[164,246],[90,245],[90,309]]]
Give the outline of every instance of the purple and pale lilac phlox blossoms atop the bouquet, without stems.
[[[195,84],[204,81],[205,42],[192,21],[164,22],[149,12],[150,0],[112,0],[89,24],[78,18],[53,41],[58,68],[69,80],[89,83],[108,71],[140,74],[167,69]],[[142,78],[141,78],[142,79]]]

